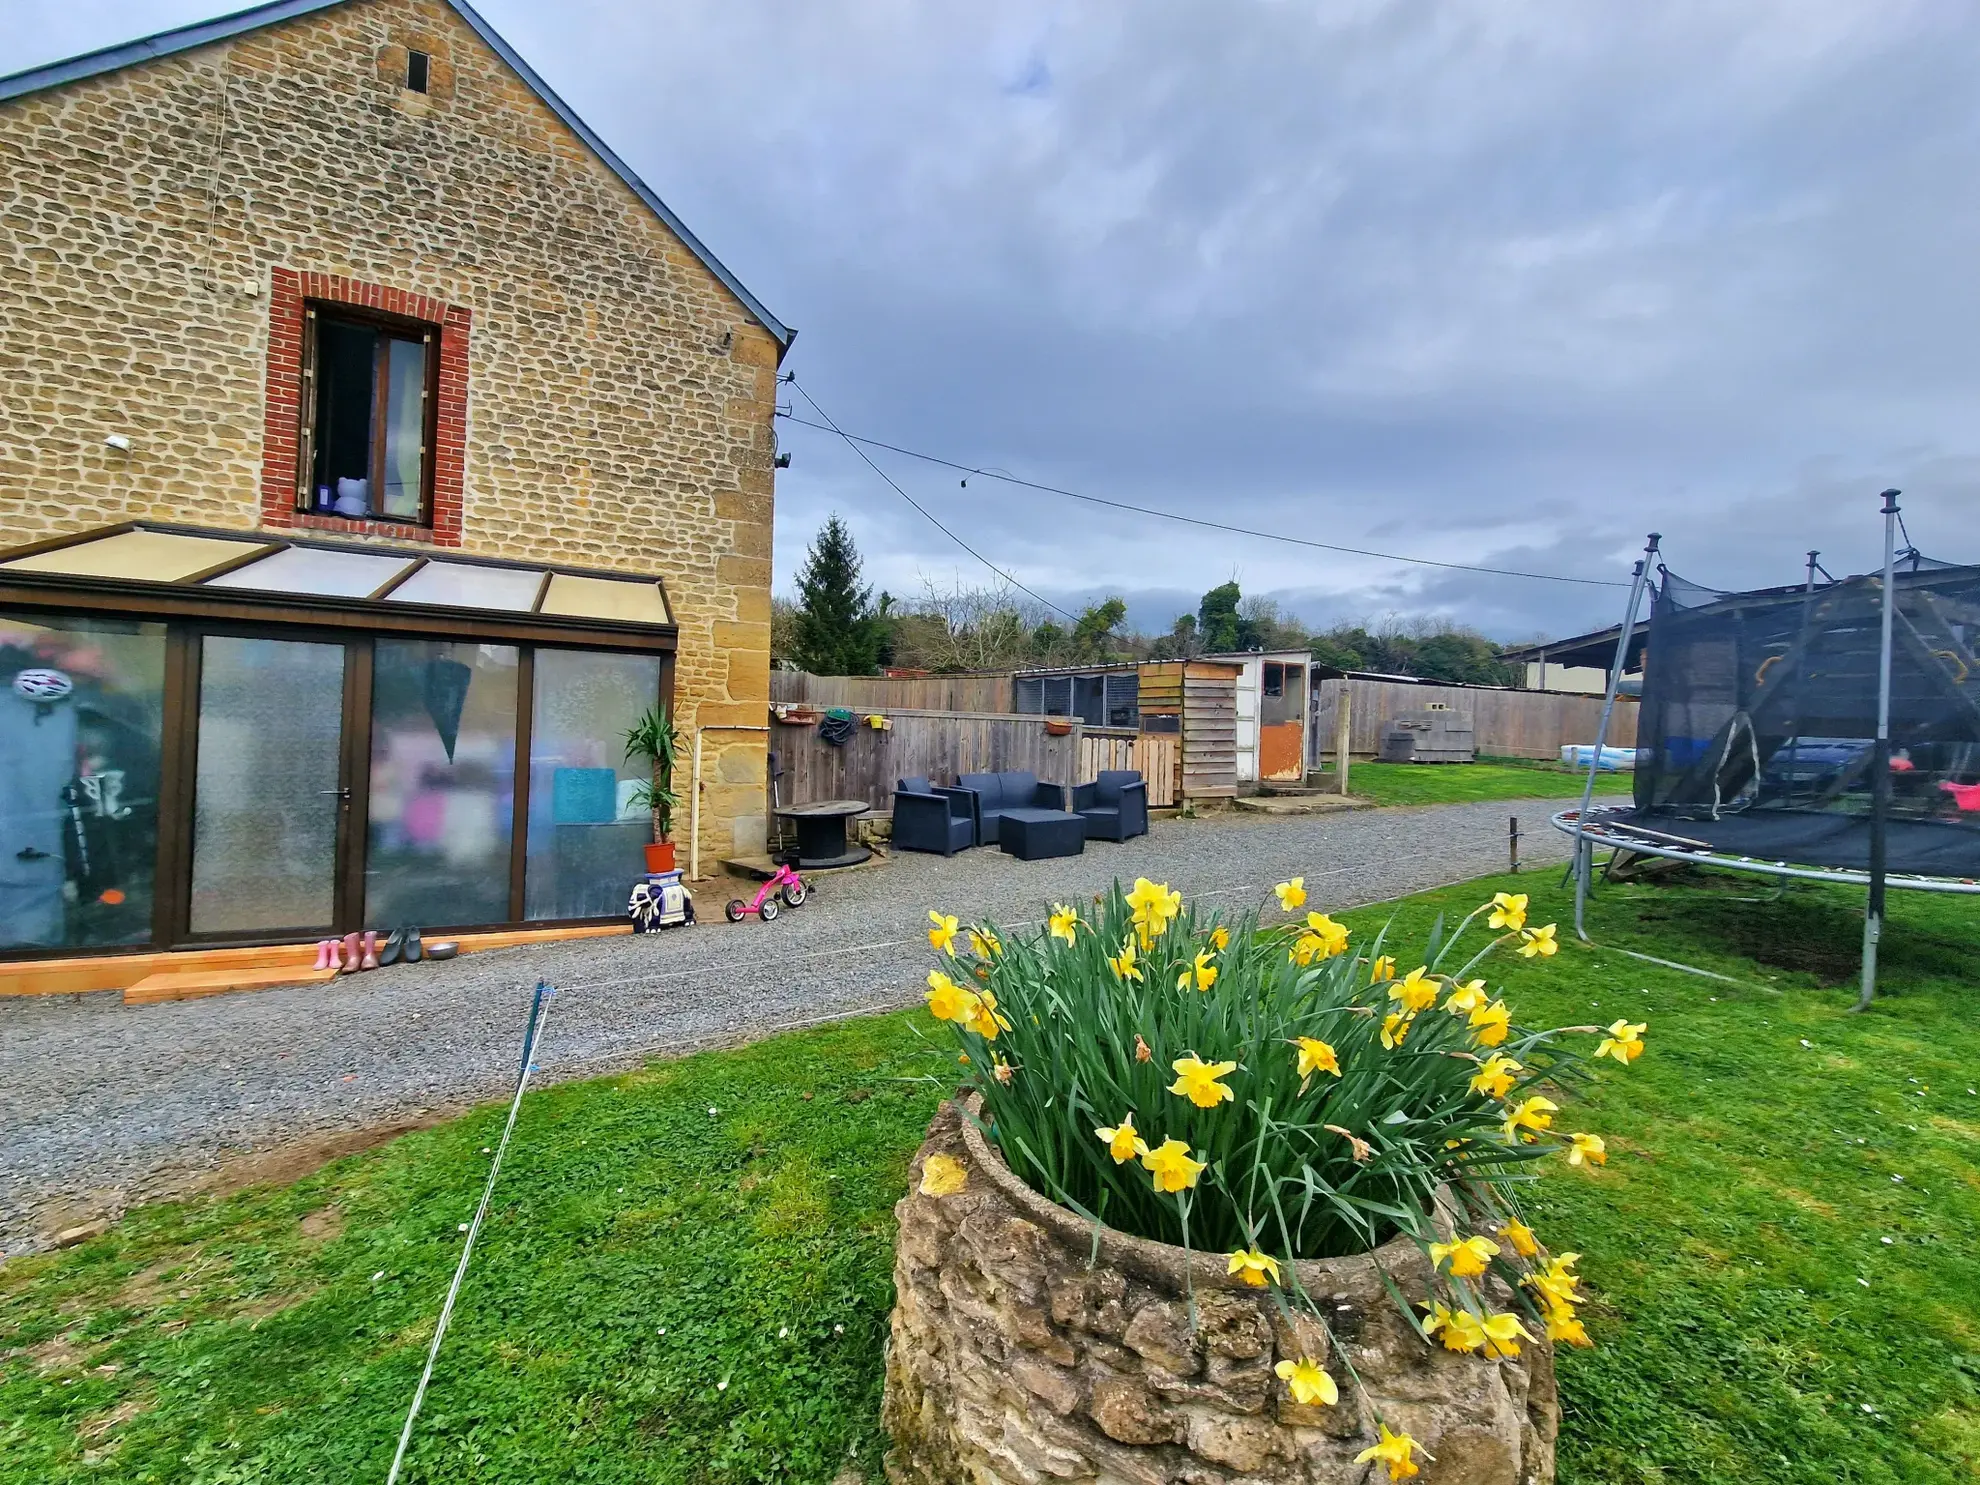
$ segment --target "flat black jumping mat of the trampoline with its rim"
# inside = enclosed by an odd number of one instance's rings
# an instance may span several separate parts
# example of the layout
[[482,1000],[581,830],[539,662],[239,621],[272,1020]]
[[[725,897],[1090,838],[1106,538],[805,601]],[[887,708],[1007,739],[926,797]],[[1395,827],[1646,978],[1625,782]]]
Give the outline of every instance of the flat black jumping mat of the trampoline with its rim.
[[[1861,814],[1752,810],[1719,820],[1685,820],[1630,810],[1608,820],[1705,842],[1721,855],[1869,871],[1869,816]],[[1980,877],[1980,814],[1970,826],[1950,820],[1891,820],[1885,826],[1885,867],[1921,877]]]

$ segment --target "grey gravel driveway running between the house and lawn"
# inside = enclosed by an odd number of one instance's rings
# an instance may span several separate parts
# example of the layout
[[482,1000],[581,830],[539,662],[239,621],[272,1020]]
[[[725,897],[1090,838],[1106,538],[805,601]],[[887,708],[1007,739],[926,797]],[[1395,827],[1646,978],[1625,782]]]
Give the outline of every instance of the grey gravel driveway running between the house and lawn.
[[160,1006],[115,992],[0,998],[0,1251],[85,1214],[115,1214],[226,1156],[418,1119],[499,1097],[515,1075],[537,978],[562,990],[541,1055],[580,1077],[695,1045],[919,998],[927,909],[1041,917],[1111,879],[1148,875],[1190,899],[1257,903],[1303,873],[1311,907],[1352,907],[1566,857],[1540,800],[1269,818],[1158,820],[1142,840],[1061,861],[1002,851],[897,855],[824,877],[774,925],[709,923],[408,964],[327,986]]

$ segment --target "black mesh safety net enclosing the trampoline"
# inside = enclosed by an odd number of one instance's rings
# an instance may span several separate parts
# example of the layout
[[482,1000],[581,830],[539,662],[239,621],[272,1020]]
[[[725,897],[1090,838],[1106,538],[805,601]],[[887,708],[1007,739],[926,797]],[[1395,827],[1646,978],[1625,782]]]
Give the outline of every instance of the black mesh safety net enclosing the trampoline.
[[[1980,877],[1980,566],[1907,554],[1891,640],[1889,869]],[[1869,865],[1883,576],[1715,592],[1663,572],[1637,713],[1645,830]]]

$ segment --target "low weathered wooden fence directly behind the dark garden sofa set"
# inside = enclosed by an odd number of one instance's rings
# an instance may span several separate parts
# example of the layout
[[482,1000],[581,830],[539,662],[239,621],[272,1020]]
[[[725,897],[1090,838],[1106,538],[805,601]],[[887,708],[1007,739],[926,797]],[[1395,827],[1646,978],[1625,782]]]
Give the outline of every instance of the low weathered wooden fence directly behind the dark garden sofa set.
[[776,725],[770,746],[782,778],[778,804],[865,800],[867,808],[893,810],[897,778],[921,774],[952,784],[958,774],[994,774],[1028,768],[1047,784],[1085,784],[1101,768],[1140,768],[1148,804],[1174,804],[1174,739],[1133,733],[1099,733],[1073,725],[1063,737],[1045,731],[1040,717],[1012,713],[887,711],[891,729],[855,727],[845,746],[826,742],[816,727]]

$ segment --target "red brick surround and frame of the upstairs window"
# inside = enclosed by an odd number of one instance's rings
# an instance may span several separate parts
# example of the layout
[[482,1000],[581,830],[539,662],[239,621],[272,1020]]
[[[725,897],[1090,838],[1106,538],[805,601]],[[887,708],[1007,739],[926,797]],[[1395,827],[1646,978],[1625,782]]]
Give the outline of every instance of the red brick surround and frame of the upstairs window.
[[[348,305],[350,323],[374,323],[390,335],[418,339],[432,329],[438,341],[438,364],[428,378],[432,408],[428,428],[432,447],[426,455],[426,491],[414,519],[380,521],[327,515],[315,507],[311,477],[305,467],[311,457],[313,428],[305,416],[315,412],[305,370],[315,362],[315,329],[325,319],[337,319],[337,307]],[[311,319],[311,309],[317,319]],[[261,455],[261,525],[309,527],[372,537],[430,541],[436,546],[461,544],[461,473],[467,442],[467,331],[471,315],[461,305],[447,305],[428,295],[362,283],[335,273],[297,273],[277,267],[269,289],[269,348],[267,348],[267,420]]]

